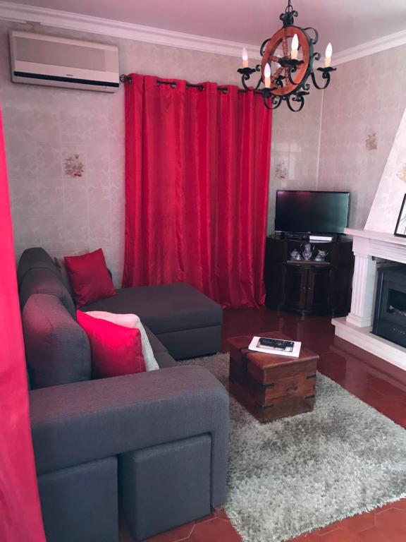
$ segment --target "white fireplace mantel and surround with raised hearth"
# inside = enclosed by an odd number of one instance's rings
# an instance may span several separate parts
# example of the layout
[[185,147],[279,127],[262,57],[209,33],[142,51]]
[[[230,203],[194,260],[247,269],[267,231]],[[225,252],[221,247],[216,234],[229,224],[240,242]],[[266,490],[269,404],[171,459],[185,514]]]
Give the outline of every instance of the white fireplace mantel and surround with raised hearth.
[[350,228],[345,229],[345,234],[353,237],[352,250],[355,255],[351,312],[346,318],[333,319],[336,335],[406,370],[406,349],[371,333],[376,258],[406,263],[406,238]]

